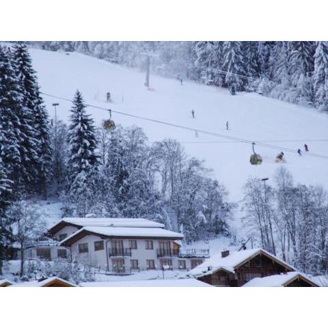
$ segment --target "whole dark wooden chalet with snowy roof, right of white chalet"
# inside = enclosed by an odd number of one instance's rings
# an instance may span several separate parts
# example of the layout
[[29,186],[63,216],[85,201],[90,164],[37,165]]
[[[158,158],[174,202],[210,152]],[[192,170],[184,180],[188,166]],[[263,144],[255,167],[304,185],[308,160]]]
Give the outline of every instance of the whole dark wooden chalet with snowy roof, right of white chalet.
[[264,249],[222,251],[189,271],[188,275],[213,286],[240,287],[256,277],[296,271]]

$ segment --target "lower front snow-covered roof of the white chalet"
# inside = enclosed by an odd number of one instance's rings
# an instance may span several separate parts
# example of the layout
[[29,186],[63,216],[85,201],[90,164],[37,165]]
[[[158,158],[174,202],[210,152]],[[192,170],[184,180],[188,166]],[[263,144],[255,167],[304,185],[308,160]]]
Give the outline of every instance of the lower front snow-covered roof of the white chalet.
[[165,230],[163,228],[136,228],[136,227],[83,227],[77,232],[74,232],[63,241],[61,246],[72,245],[75,241],[83,238],[87,234],[96,234],[103,238],[107,237],[132,237],[132,238],[169,238],[182,239],[183,234]]

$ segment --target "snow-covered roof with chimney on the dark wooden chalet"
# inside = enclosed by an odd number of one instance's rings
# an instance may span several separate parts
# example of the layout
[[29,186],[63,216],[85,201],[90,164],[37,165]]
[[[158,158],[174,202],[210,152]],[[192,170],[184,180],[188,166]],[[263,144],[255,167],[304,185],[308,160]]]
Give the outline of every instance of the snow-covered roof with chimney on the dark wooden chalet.
[[219,270],[226,270],[231,273],[234,273],[234,269],[236,267],[243,264],[243,262],[249,260],[250,258],[258,256],[258,254],[264,254],[266,256],[269,256],[270,258],[273,258],[273,260],[275,260],[279,264],[284,265],[284,267],[288,267],[288,269],[290,269],[291,271],[296,270],[286,262],[279,260],[273,254],[270,254],[268,251],[264,251],[264,249],[261,248],[255,248],[245,249],[243,251],[232,251],[230,252],[230,255],[226,256],[225,258],[222,258],[222,254],[220,252],[215,256],[211,256],[208,260],[189,271],[188,275],[200,277],[203,275],[210,275]]

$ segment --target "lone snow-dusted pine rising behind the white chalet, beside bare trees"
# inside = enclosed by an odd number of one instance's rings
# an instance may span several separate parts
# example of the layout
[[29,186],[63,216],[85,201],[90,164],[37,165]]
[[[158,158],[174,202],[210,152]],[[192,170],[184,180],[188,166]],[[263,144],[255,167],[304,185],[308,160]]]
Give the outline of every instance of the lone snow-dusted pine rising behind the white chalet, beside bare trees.
[[68,183],[69,187],[77,176],[88,176],[98,165],[96,154],[96,131],[94,121],[87,115],[85,104],[79,90],[77,90],[70,116],[68,128]]

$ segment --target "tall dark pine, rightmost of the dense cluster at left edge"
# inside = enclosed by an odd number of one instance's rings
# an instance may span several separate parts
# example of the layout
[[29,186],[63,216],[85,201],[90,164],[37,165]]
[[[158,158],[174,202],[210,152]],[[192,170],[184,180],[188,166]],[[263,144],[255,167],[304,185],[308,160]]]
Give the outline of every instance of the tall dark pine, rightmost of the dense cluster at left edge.
[[46,186],[50,178],[51,141],[48,113],[40,96],[36,72],[24,42],[17,42],[12,54],[23,94],[23,111],[20,115],[27,150],[24,166],[29,174],[30,189],[41,191],[46,197]]

